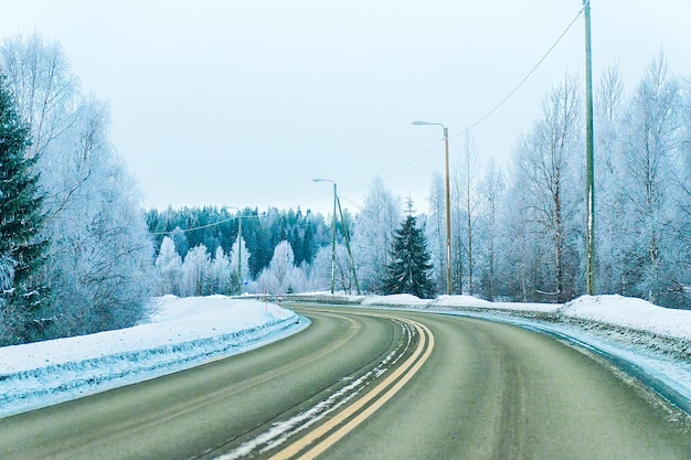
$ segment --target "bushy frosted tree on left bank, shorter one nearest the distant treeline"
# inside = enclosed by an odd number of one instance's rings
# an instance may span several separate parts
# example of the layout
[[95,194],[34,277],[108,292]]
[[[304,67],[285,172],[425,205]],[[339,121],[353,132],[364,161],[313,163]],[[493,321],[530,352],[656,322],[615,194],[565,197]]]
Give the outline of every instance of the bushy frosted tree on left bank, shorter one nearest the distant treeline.
[[132,325],[147,313],[152,245],[140,197],[108,139],[107,107],[83,100],[42,156],[46,276],[56,336]]

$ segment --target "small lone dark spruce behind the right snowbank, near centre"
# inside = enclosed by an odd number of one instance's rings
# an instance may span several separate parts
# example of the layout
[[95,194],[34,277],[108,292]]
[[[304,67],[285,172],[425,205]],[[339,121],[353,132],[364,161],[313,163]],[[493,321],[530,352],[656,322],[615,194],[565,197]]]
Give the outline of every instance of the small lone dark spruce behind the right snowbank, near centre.
[[432,265],[427,242],[422,228],[417,228],[412,212],[400,229],[394,232],[392,263],[386,267],[384,289],[386,293],[411,293],[422,299],[434,296],[429,277]]

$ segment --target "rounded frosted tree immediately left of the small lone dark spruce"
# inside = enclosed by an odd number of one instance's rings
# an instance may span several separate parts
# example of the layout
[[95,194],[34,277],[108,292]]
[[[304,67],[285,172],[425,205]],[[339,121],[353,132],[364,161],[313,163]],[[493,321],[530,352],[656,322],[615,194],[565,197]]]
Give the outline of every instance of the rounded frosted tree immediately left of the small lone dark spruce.
[[391,261],[393,231],[401,222],[401,200],[380,178],[375,178],[355,218],[352,250],[360,287],[365,292],[381,292]]

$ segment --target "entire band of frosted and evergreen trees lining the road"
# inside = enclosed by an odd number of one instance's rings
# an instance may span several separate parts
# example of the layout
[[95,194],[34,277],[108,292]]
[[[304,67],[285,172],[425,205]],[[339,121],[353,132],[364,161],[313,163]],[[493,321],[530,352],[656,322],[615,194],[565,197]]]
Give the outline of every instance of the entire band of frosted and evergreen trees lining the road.
[[[363,292],[402,290],[391,281],[403,235],[424,253],[416,292],[445,290],[439,174],[417,216],[375,178],[358,214],[338,220],[333,248],[331,216],[309,210],[145,212],[107,105],[81,92],[59,44],[6,40],[0,75],[0,345],[135,324],[152,295],[327,290],[332,276],[353,292],[344,231]],[[690,79],[659,55],[631,88],[614,67],[596,88],[596,291],[691,308]],[[506,169],[481,161],[491,156],[470,135],[453,152],[455,293],[565,302],[585,291],[582,94],[570,76],[549,89]]]

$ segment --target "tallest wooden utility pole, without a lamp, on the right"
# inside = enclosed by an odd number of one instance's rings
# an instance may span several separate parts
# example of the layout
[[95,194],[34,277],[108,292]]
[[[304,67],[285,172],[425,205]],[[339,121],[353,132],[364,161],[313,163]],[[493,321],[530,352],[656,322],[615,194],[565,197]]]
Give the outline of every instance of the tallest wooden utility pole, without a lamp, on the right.
[[585,15],[585,188],[587,208],[585,289],[595,293],[595,173],[593,156],[593,58],[591,55],[591,0],[583,0]]

